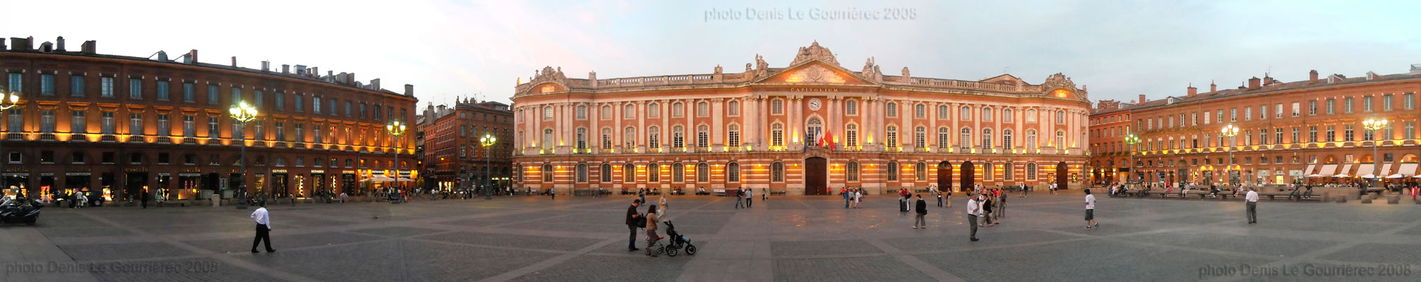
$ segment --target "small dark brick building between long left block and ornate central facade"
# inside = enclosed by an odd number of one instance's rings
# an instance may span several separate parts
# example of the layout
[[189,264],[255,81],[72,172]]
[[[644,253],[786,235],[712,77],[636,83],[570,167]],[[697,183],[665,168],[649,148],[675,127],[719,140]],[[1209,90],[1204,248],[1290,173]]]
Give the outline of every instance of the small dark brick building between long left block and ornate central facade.
[[[455,101],[452,108],[425,109],[426,181],[439,188],[477,184],[507,186],[512,176],[513,111],[500,102]],[[485,135],[497,137],[486,150]]]

